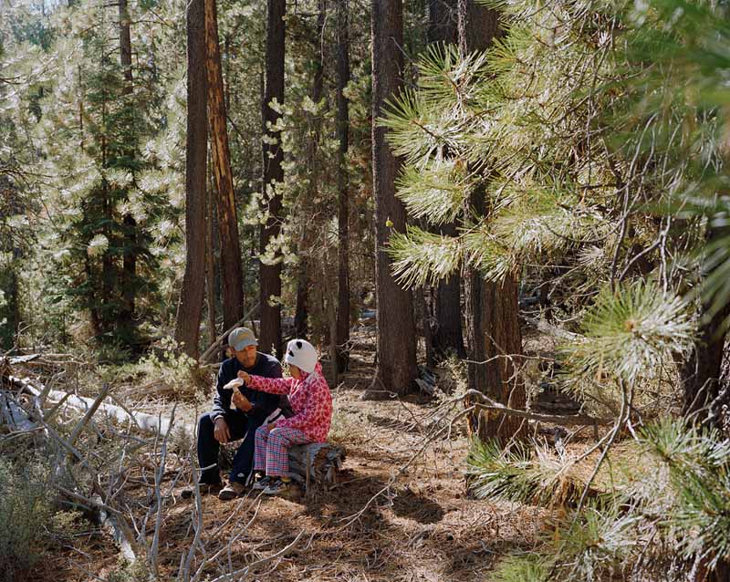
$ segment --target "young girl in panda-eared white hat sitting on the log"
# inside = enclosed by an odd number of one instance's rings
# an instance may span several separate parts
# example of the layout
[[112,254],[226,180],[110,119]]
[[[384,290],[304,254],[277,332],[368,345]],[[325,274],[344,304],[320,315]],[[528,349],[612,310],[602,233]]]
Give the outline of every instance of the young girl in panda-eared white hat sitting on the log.
[[307,442],[326,442],[332,420],[332,397],[322,376],[317,350],[304,339],[287,344],[284,361],[291,378],[238,377],[253,390],[270,394],[288,394],[294,416],[260,426],[255,433],[254,471],[266,475],[254,483],[265,494],[281,494],[289,487],[289,447]]

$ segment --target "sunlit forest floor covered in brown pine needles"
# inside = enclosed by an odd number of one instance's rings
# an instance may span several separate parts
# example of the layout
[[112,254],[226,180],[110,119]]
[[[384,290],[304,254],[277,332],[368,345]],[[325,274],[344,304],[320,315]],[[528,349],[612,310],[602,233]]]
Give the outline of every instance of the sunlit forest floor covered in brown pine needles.
[[[273,556],[302,531],[286,556],[254,569],[246,579],[489,580],[500,559],[536,546],[546,510],[467,494],[468,441],[462,424],[437,439],[424,438],[433,412],[448,398],[442,390],[435,399],[360,400],[370,387],[373,355],[370,342],[360,343],[349,372],[333,389],[330,440],[347,452],[339,484],[299,501],[254,493],[232,502],[203,496],[203,545],[211,554],[230,549],[203,568],[203,579]],[[194,418],[194,411],[185,414],[188,421]],[[189,467],[180,471],[189,464],[183,459],[170,456],[163,483],[169,496],[160,528],[161,579],[177,577],[193,542],[195,500],[180,496],[190,480]],[[172,484],[180,474],[187,476]],[[134,475],[127,488],[133,497]],[[135,580],[120,569],[118,556],[110,536],[93,530],[45,556],[33,579]],[[198,556],[193,570],[199,565]]]

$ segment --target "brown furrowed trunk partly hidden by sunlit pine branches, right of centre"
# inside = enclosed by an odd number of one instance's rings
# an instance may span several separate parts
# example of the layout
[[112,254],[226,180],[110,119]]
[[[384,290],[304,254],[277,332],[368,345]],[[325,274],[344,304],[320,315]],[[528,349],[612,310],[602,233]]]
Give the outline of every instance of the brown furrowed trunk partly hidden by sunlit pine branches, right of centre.
[[[458,31],[463,56],[485,50],[499,34],[499,14],[474,0],[458,0]],[[476,220],[488,215],[484,187],[474,188],[469,207]],[[510,274],[502,283],[494,283],[469,268],[465,270],[464,291],[469,389],[484,392],[511,408],[524,408],[525,385],[518,374],[522,336],[516,276]],[[527,434],[527,427],[519,419],[484,411],[470,415],[469,428],[481,440],[497,438],[503,443]]]

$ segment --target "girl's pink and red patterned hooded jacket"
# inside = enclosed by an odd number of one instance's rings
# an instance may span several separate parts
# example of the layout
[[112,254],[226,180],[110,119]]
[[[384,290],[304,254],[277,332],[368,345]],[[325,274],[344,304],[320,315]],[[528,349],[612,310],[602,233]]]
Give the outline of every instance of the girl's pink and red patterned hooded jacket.
[[319,362],[311,374],[302,371],[301,379],[251,376],[246,385],[269,394],[289,395],[294,416],[276,421],[277,429],[297,429],[312,442],[327,442],[332,421],[332,396]]

